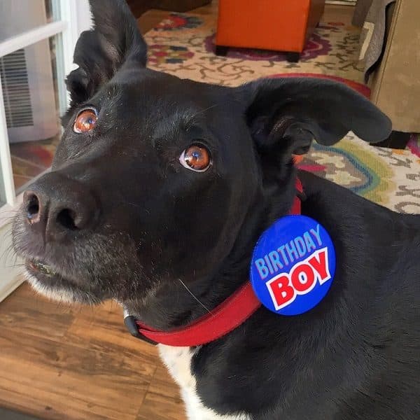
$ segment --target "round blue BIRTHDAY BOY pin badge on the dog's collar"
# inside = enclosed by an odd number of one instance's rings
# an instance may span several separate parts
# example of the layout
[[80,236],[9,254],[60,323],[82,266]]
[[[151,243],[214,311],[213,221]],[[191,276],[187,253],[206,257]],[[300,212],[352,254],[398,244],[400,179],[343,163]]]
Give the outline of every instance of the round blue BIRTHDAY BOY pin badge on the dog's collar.
[[303,314],[330,289],[335,249],[323,226],[307,216],[285,216],[258,239],[251,283],[261,303],[280,315]]

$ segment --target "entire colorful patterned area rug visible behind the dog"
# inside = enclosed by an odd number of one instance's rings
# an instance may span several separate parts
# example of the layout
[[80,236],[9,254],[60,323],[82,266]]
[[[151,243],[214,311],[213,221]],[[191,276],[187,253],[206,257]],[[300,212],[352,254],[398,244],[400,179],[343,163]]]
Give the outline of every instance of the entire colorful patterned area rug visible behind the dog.
[[[146,34],[149,66],[207,83],[235,86],[259,77],[316,76],[342,81],[369,96],[358,62],[359,29],[321,22],[298,63],[279,52],[231,48],[214,55],[216,15],[172,13]],[[420,213],[419,140],[397,151],[349,134],[335,147],[314,144],[300,163],[320,176],[402,213]]]

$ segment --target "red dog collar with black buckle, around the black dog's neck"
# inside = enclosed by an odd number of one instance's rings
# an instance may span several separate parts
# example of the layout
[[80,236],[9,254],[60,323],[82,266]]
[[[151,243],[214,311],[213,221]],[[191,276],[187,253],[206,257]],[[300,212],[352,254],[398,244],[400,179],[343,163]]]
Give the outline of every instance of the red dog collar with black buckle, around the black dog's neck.
[[[300,214],[303,193],[302,183],[296,179],[297,195],[293,200],[290,214]],[[134,337],[153,344],[167,346],[200,346],[228,334],[244,323],[259,307],[261,302],[255,296],[251,281],[247,281],[233,295],[213,309],[209,314],[198,318],[190,325],[169,332],[154,330],[137,321],[134,316],[124,318],[125,325]]]

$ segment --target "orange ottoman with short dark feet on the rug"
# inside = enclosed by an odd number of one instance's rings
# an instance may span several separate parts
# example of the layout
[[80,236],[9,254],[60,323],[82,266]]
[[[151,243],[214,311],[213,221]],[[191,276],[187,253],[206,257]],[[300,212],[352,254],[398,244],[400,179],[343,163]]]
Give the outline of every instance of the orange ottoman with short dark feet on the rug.
[[289,52],[297,61],[325,0],[219,0],[216,54],[228,47]]

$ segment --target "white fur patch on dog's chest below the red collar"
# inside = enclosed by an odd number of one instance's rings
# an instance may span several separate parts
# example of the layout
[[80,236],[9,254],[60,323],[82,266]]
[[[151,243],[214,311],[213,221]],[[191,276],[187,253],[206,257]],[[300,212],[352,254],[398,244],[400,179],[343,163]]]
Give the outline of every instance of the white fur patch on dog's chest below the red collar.
[[[191,359],[194,351],[190,347],[171,347],[159,344],[159,353],[170,374],[181,387],[190,420],[252,420],[248,414],[221,415],[204,407],[197,394],[195,377],[191,374]],[[198,348],[196,351],[199,351]]]

